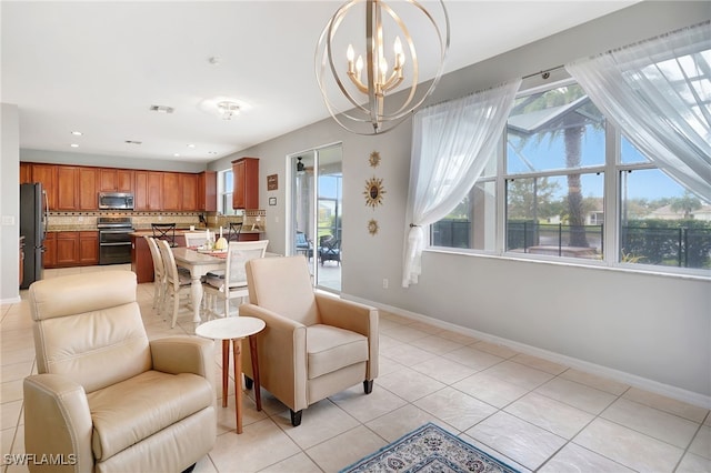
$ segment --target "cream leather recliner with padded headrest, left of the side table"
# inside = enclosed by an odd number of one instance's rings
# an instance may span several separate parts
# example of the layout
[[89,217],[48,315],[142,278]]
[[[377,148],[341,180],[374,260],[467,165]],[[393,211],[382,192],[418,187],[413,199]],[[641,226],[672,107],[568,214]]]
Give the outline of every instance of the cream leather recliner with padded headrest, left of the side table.
[[217,439],[213,342],[148,340],[136,274],[34,282],[37,371],[24,379],[30,471],[180,472]]

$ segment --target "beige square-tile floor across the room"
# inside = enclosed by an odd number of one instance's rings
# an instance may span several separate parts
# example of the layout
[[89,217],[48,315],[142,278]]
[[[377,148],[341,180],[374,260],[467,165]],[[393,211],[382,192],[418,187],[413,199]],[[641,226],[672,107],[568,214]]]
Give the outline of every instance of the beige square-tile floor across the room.
[[[117,266],[47,276],[106,269]],[[189,311],[173,330],[151,311],[152,291],[152,284],[138,290],[149,336],[192,334]],[[36,369],[27,302],[2,305],[0,318],[4,459],[23,452],[22,379]],[[707,409],[394,314],[381,313],[380,330],[372,394],[353,386],[310,406],[294,429],[269,393],[262,412],[248,393],[241,435],[231,397],[228,409],[218,407],[217,445],[196,471],[336,472],[434,422],[521,471],[711,472]],[[219,350],[214,369],[217,376]]]

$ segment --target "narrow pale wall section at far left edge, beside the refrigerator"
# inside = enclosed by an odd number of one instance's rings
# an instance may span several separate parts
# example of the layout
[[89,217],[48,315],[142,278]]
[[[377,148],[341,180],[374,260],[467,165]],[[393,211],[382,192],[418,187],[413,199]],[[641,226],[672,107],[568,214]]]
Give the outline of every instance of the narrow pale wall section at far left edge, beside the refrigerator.
[[0,301],[4,303],[19,301],[20,293],[20,118],[17,105],[2,103],[0,107]]

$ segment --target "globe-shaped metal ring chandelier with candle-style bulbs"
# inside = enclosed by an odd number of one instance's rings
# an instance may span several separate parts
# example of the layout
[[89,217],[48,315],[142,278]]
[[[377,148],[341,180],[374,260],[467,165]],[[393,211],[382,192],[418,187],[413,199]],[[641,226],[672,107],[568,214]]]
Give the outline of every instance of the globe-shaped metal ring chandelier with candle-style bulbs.
[[[316,73],[326,107],[343,129],[358,134],[384,133],[414,113],[432,93],[449,49],[449,17],[442,0],[437,3],[441,11],[435,16],[415,0],[351,0],[329,20],[317,46]],[[417,32],[417,41],[410,31]],[[417,49],[435,53],[428,69],[433,79],[419,91]]]

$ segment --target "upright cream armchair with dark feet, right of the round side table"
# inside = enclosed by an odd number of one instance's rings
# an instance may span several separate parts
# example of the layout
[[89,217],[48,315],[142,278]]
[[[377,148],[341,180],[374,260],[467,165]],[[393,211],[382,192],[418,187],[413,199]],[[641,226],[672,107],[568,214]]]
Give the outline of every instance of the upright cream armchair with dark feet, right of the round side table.
[[[257,334],[260,384],[291,410],[302,410],[356,384],[365,394],[378,376],[378,310],[316,293],[303,255],[247,262],[249,302],[240,315],[262,319]],[[249,348],[242,370],[253,379]],[[248,388],[251,382],[247,383]]]

